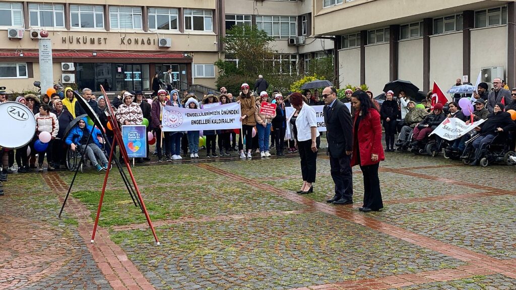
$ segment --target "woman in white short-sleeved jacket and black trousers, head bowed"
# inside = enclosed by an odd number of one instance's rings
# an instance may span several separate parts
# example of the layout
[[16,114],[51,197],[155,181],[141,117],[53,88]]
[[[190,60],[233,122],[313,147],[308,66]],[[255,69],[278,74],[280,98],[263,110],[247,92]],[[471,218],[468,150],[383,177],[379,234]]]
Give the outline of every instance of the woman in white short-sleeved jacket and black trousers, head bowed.
[[295,111],[288,117],[288,124],[295,146],[299,149],[303,176],[303,185],[297,193],[310,194],[314,191],[317,151],[320,144],[315,110],[303,101],[303,95],[298,92],[293,93],[289,100]]

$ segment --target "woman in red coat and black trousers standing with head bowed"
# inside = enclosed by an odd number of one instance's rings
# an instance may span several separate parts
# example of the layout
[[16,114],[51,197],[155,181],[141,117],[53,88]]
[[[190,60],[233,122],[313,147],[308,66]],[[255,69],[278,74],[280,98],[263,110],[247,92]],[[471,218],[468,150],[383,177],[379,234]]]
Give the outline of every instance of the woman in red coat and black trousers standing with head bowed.
[[359,211],[379,211],[383,203],[378,165],[385,160],[380,113],[364,91],[359,90],[351,95],[351,105],[355,111],[351,166],[360,165],[364,175],[364,205]]

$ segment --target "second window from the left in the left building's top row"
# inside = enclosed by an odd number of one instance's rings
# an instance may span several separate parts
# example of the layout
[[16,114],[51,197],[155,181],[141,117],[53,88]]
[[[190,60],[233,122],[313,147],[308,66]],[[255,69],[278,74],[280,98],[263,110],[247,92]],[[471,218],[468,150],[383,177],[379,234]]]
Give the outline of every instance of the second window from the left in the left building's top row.
[[62,4],[29,3],[30,26],[65,27],[65,7]]

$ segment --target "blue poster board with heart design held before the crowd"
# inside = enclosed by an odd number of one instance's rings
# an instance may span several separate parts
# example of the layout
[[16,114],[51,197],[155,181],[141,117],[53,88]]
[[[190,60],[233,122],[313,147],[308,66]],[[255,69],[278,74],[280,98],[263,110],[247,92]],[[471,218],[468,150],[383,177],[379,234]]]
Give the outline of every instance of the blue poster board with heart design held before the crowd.
[[122,140],[129,158],[147,157],[147,130],[145,125],[123,125]]

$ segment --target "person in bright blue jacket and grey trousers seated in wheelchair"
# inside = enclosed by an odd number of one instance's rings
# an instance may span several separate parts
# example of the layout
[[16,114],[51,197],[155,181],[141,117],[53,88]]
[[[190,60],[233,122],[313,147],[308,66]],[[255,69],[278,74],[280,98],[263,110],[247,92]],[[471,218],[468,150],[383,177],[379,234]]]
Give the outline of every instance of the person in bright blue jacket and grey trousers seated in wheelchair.
[[[89,137],[91,128],[90,125],[86,125],[85,118],[79,120],[77,125],[68,133],[65,142],[70,146],[72,151],[76,151],[77,149],[83,151],[83,154],[88,156],[95,169],[101,171],[102,169],[107,169],[108,166],[106,155],[104,155],[104,152],[100,149],[101,144],[97,138],[98,136],[102,137],[102,133],[95,127],[93,129],[93,136]],[[97,162],[97,158],[99,158],[102,166]]]

